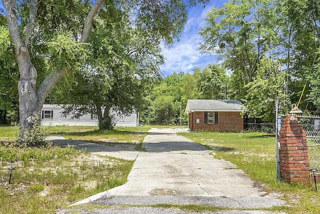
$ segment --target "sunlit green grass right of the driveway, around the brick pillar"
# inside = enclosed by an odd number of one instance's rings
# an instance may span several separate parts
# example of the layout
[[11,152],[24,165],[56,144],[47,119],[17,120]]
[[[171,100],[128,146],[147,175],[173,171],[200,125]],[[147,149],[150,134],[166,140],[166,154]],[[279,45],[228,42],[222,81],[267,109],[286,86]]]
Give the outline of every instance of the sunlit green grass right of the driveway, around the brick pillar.
[[280,193],[292,205],[266,210],[319,213],[320,193],[314,191],[313,183],[286,184],[276,180],[274,135],[261,132],[183,132],[180,135],[210,148],[216,158],[236,164],[251,178],[263,184],[266,191]]

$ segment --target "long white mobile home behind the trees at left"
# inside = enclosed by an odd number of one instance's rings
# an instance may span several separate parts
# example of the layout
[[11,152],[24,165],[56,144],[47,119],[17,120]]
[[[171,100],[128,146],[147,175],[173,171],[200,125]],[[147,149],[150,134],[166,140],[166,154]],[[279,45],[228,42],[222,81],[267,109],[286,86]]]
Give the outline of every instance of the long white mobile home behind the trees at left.
[[[79,119],[71,119],[71,116],[62,115],[63,107],[58,104],[43,104],[40,123],[41,125],[98,125],[98,118],[95,114],[85,114]],[[139,114],[132,113],[129,116],[119,117],[114,115],[115,126],[138,126]]]

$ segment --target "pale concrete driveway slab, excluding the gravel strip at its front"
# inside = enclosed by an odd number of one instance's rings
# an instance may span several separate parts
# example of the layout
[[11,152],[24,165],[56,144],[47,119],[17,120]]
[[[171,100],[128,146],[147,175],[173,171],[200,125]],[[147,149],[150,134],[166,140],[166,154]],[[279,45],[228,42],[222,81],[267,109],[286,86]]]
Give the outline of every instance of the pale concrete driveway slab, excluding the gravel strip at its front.
[[127,182],[112,195],[178,194],[192,196],[259,196],[259,190],[236,165],[214,158],[210,150],[175,129],[152,128]]

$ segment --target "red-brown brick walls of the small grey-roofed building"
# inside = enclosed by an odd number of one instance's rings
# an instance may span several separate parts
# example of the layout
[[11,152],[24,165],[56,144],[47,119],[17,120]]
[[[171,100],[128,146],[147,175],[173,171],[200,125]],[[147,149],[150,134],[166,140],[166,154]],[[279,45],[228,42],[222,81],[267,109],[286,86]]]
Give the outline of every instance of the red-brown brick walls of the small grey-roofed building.
[[[199,123],[196,123],[196,119],[199,119]],[[243,118],[239,112],[218,112],[217,124],[205,124],[204,112],[195,111],[189,113],[189,129],[191,131],[242,131]]]

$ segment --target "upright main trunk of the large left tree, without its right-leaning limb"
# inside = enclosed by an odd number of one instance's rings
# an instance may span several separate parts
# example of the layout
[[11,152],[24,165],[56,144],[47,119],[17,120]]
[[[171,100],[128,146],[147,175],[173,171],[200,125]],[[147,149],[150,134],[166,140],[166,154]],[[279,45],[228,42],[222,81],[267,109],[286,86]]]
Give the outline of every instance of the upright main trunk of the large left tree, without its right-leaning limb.
[[25,130],[32,126],[32,121],[36,113],[39,111],[39,99],[36,94],[35,83],[37,73],[33,67],[27,45],[29,43],[30,35],[35,27],[35,14],[37,11],[37,1],[30,0],[29,21],[23,29],[24,38],[20,36],[18,26],[18,17],[15,12],[15,0],[5,0],[3,5],[6,9],[6,19],[10,38],[15,44],[15,55],[18,62],[20,78],[18,81],[19,92],[19,139],[23,138]]

